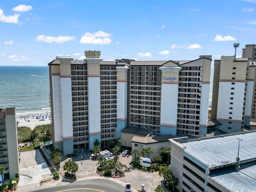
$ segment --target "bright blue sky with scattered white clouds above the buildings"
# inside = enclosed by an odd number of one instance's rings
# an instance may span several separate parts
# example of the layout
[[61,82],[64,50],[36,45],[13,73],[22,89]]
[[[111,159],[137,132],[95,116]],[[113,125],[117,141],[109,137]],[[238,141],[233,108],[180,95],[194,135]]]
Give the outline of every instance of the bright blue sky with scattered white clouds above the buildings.
[[194,60],[256,44],[256,0],[0,1],[0,65],[83,60]]

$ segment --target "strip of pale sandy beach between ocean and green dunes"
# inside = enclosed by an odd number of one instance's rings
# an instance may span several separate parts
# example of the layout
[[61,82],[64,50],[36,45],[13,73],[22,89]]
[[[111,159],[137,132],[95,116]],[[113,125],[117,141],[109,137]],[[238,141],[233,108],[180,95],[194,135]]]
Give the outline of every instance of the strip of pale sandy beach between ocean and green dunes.
[[52,122],[51,118],[49,118],[49,117],[36,118],[36,116],[17,117],[16,120],[18,122],[19,127],[26,126],[26,127],[30,127],[31,130],[33,130],[38,125],[51,124],[51,122]]

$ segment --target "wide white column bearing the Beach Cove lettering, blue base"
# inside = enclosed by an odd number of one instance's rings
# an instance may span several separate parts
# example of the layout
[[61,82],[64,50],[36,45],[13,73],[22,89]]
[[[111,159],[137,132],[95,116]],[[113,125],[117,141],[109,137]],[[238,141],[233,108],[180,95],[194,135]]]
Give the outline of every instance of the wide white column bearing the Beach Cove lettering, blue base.
[[179,71],[182,68],[170,66],[159,69],[162,70],[160,133],[176,135]]

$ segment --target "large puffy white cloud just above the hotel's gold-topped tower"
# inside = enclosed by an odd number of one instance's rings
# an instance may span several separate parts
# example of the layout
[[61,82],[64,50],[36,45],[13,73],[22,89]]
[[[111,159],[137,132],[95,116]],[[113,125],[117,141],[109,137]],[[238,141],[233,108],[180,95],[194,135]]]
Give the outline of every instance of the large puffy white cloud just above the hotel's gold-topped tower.
[[[96,38],[98,37],[98,38]],[[85,44],[110,44],[111,39],[108,38],[110,37],[110,33],[106,33],[104,31],[98,31],[94,34],[91,34],[89,32],[86,32],[84,36],[80,39],[79,43],[85,43]]]

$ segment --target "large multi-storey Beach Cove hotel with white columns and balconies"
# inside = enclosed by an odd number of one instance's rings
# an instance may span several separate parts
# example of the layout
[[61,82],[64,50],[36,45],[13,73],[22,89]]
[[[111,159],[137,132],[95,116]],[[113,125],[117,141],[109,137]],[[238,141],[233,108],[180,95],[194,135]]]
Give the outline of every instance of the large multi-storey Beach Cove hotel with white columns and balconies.
[[211,56],[193,61],[102,61],[86,51],[83,61],[50,62],[55,148],[64,154],[115,143],[126,126],[158,134],[206,136]]

